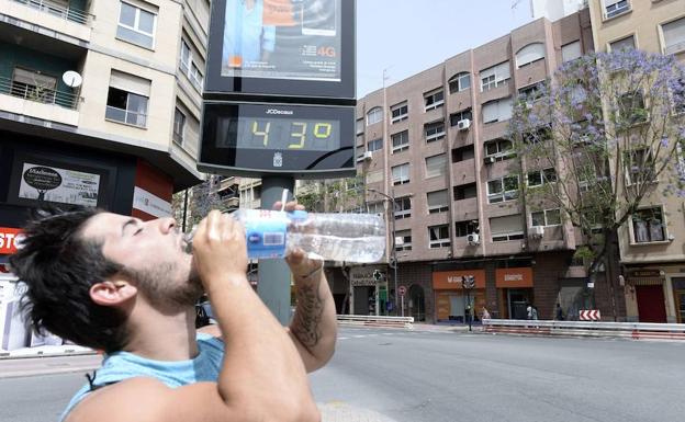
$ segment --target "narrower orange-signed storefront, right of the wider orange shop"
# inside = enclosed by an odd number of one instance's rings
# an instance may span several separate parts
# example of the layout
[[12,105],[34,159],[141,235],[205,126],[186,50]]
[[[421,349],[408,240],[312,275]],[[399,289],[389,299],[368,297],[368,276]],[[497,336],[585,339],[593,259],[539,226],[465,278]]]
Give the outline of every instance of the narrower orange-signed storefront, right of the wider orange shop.
[[502,318],[526,319],[526,308],[535,306],[532,269],[496,269],[495,287]]

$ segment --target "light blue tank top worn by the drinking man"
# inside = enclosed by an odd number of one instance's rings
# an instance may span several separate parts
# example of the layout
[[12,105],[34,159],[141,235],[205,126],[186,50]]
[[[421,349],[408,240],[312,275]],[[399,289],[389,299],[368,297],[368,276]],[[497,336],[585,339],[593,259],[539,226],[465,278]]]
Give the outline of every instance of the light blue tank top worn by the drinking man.
[[90,392],[127,378],[157,378],[171,388],[199,381],[216,383],[224,358],[224,342],[204,333],[198,333],[196,339],[200,353],[189,361],[153,361],[128,352],[105,355],[92,381],[78,390],[61,414],[60,421],[64,421],[71,409]]

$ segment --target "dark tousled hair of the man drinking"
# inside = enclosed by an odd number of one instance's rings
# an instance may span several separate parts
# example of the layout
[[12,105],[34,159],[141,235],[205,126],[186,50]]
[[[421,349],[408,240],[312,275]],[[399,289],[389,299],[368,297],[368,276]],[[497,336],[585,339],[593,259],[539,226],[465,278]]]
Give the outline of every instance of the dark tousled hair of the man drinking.
[[126,341],[126,316],[90,298],[90,287],[122,270],[102,254],[102,241],[86,240],[82,229],[96,208],[44,208],[24,228],[12,272],[26,286],[22,309],[36,332],[44,330],[77,344],[114,352]]

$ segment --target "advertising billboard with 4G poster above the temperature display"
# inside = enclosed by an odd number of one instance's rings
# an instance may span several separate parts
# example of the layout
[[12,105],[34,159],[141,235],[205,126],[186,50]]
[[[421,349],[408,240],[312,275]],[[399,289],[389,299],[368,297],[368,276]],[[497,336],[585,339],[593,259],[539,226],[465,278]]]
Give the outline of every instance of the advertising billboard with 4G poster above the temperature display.
[[353,0],[212,2],[205,98],[355,98]]

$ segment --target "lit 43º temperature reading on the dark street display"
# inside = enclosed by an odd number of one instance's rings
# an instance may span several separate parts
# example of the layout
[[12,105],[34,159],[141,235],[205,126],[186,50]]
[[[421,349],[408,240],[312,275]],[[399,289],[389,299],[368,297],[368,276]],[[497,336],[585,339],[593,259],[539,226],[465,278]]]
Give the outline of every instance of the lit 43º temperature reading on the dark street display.
[[238,128],[238,146],[250,149],[329,151],[339,148],[339,122],[248,118]]

